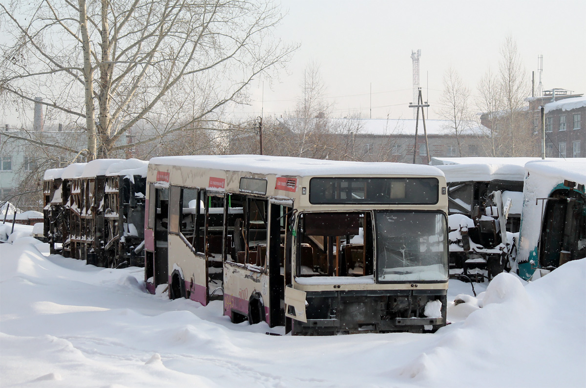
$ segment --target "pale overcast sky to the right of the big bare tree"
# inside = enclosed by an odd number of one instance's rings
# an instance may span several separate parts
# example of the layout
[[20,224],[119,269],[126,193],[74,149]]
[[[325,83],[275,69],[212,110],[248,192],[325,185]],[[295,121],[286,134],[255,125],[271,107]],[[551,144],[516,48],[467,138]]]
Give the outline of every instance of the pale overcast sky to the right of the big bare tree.
[[[586,0],[358,1],[282,0],[285,15],[277,36],[301,43],[272,86],[264,83],[264,115],[291,111],[301,96],[308,63],[321,66],[334,114],[412,118],[411,50],[421,49],[420,86],[431,108],[442,91],[442,76],[453,66],[476,93],[489,67],[498,70],[507,36],[519,47],[528,81],[543,55],[543,87],[586,93]],[[429,89],[428,89],[429,86]],[[262,81],[251,87],[253,102],[242,112],[260,115]],[[352,97],[346,97],[352,96]],[[427,118],[427,117],[426,117]]]

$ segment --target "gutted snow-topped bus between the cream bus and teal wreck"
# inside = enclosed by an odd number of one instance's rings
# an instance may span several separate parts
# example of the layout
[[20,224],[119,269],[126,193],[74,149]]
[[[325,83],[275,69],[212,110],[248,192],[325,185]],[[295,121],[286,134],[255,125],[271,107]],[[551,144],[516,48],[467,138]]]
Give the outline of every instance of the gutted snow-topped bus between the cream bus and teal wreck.
[[524,165],[533,160],[537,158],[431,158],[448,185],[451,277],[490,280],[513,266]]

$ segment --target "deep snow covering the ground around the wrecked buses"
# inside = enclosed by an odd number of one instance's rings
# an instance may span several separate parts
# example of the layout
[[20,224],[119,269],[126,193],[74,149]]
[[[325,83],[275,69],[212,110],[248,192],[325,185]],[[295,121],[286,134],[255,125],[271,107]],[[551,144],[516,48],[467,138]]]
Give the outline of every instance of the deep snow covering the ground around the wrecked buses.
[[585,279],[582,259],[529,284],[500,274],[478,298],[450,281],[452,324],[434,334],[271,336],[222,302],[148,294],[142,268],[21,237],[0,244],[0,386],[584,387]]

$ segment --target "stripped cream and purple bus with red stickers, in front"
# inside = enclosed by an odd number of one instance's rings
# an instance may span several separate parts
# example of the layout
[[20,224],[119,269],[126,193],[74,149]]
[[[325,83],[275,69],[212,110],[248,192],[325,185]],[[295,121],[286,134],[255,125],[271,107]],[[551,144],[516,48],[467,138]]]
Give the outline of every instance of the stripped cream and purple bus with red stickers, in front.
[[295,335],[445,325],[447,195],[432,166],[153,158],[145,280]]

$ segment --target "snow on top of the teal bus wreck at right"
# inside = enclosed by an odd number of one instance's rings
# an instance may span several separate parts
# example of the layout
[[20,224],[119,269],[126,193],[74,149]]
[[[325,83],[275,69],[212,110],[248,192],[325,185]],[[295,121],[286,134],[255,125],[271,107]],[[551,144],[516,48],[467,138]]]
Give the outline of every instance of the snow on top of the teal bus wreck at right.
[[532,174],[542,179],[544,176],[556,178],[563,182],[564,179],[573,181],[581,185],[586,185],[586,158],[536,160],[525,165],[529,176]]

